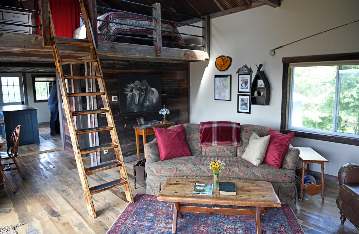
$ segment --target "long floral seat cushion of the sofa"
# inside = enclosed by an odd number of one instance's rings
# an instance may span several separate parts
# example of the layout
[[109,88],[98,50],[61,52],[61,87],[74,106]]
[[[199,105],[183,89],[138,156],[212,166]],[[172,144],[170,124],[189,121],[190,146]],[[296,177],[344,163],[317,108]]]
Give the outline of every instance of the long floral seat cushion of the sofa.
[[[184,156],[160,162],[146,162],[147,180],[165,181],[168,177],[213,178],[210,161],[222,160],[227,166],[219,174],[221,179],[247,179],[269,182],[292,182],[295,173],[290,169],[276,169],[266,163],[258,167],[240,157]],[[294,187],[294,185],[293,185]]]

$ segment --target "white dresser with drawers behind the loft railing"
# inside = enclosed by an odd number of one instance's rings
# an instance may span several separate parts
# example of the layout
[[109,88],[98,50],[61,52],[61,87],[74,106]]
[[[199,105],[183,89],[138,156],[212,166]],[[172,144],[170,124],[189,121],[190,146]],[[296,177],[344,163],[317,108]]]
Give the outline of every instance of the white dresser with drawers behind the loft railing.
[[32,34],[31,27],[2,24],[1,22],[31,25],[31,13],[0,9],[0,31]]

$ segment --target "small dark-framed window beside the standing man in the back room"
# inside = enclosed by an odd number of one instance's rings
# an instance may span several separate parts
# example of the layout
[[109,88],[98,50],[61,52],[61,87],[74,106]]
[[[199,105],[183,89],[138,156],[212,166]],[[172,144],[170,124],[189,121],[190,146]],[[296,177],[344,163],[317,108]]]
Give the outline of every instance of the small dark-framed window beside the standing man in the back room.
[[50,97],[50,92],[54,83],[54,76],[32,76],[32,87],[34,92],[34,102],[47,102]]

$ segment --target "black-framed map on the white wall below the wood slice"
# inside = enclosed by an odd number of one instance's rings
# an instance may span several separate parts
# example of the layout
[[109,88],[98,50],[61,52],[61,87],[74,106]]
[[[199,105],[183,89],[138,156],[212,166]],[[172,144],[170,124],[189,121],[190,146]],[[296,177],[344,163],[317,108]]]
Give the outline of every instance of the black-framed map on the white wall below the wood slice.
[[214,100],[231,100],[232,75],[214,76]]

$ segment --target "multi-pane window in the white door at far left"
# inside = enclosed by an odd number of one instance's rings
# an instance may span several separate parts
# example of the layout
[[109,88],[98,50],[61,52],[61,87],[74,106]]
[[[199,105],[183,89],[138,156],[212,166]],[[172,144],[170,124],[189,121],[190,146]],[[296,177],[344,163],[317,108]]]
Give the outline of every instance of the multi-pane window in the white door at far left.
[[22,75],[17,73],[0,74],[0,105],[22,104]]

